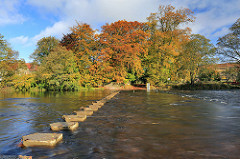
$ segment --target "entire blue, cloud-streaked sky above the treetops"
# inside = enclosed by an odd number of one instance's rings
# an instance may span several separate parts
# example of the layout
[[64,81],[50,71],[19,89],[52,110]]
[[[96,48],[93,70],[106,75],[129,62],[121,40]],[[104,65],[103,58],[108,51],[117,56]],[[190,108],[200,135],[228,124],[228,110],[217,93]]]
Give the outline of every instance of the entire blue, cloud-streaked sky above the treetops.
[[80,23],[101,29],[118,20],[146,22],[160,5],[189,8],[196,20],[188,26],[215,45],[240,18],[240,0],[0,0],[0,34],[19,58],[29,56],[43,37],[61,39],[70,27]]

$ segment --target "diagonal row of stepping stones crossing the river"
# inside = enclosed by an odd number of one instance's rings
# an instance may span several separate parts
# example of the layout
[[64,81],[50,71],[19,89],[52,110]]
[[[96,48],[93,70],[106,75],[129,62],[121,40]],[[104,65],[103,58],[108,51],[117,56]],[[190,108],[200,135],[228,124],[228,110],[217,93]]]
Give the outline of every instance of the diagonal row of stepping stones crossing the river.
[[[74,111],[76,115],[63,115],[65,122],[51,123],[50,127],[53,131],[70,130],[74,131],[78,128],[78,122],[86,120],[87,116],[91,116],[93,112],[98,111],[108,100],[113,98],[119,92],[111,93],[105,98],[92,103],[87,107],[81,107],[80,110]],[[34,133],[22,137],[22,145],[24,147],[33,146],[55,146],[63,138],[62,133]]]

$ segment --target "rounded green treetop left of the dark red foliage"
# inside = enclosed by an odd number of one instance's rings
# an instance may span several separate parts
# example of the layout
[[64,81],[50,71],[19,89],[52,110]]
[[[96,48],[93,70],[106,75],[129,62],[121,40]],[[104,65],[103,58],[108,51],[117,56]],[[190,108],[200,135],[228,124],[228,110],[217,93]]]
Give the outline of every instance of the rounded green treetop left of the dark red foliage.
[[47,57],[57,45],[59,45],[59,40],[55,37],[43,37],[37,42],[37,48],[30,57],[38,64],[41,64],[43,59]]

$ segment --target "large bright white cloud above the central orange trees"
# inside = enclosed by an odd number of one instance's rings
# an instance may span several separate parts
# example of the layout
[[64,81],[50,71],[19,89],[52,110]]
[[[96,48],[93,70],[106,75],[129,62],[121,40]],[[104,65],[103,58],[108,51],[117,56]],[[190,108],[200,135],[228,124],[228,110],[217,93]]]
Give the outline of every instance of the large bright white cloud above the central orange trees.
[[76,24],[75,21],[88,23],[94,29],[99,28],[99,24],[123,19],[146,21],[146,17],[157,11],[160,4],[159,0],[28,0],[28,3],[47,11],[43,14],[51,12],[60,17],[53,26],[36,35],[35,41],[50,35],[61,38],[69,27]]

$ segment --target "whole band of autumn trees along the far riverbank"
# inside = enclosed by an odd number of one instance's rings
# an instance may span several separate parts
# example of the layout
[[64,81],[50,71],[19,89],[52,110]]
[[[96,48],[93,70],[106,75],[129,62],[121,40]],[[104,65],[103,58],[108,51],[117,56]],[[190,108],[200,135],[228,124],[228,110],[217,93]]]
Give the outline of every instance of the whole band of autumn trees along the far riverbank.
[[[101,87],[110,82],[193,84],[199,68],[210,63],[215,52],[210,40],[191,34],[187,26],[194,20],[191,10],[167,5],[159,6],[147,22],[119,20],[103,25],[100,31],[76,22],[60,40],[52,36],[40,39],[31,55],[38,69],[21,78],[16,75],[13,83],[18,89],[47,90]],[[218,45],[222,53],[239,60],[239,20],[230,29],[232,32],[219,38]],[[1,66],[10,66],[16,59],[17,52],[10,49],[3,36],[0,53]]]

